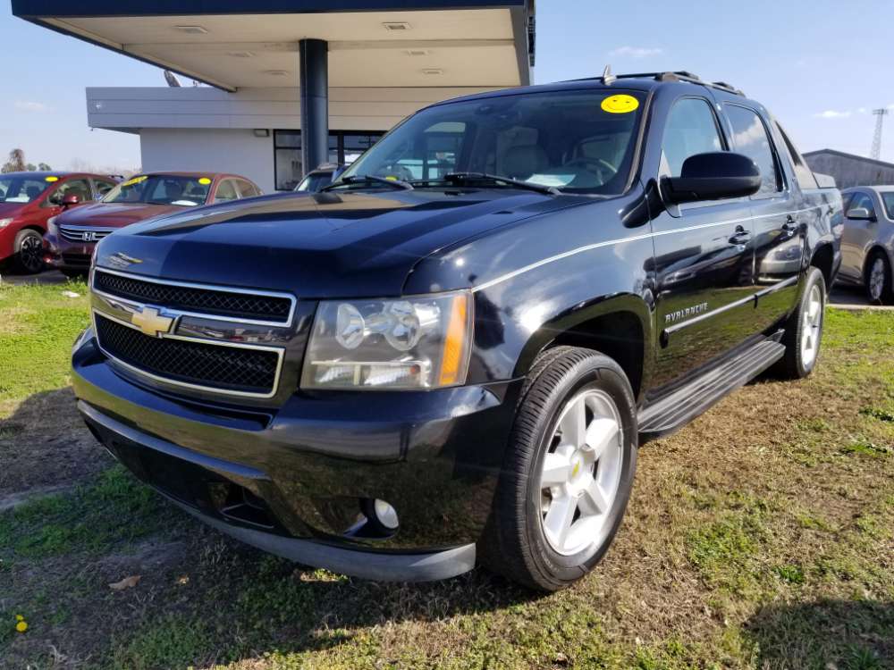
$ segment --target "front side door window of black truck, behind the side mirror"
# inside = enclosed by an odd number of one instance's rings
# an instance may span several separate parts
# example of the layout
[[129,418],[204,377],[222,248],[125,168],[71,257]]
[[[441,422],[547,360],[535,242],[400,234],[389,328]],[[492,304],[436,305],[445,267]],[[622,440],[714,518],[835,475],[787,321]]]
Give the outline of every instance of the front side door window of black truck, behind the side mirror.
[[713,109],[701,97],[678,100],[668,115],[662,142],[662,162],[670,177],[679,177],[691,155],[721,151],[723,142]]

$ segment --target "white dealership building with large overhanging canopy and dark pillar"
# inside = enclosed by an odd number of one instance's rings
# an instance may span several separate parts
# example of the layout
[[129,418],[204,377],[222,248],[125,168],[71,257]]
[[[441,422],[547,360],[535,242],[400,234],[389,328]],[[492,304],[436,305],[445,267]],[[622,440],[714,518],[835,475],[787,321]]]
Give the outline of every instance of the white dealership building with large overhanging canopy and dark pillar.
[[534,0],[165,5],[13,0],[13,13],[205,82],[88,88],[89,125],[139,134],[144,171],[235,172],[266,192],[304,164],[350,161],[420,107],[526,85],[534,63]]

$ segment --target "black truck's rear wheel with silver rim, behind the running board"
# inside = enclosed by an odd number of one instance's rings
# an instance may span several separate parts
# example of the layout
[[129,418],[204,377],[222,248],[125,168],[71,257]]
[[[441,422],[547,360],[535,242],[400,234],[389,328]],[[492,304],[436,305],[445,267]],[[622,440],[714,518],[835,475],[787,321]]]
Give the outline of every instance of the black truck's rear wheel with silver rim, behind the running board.
[[786,323],[782,356],[776,370],[785,379],[804,379],[814,372],[820,355],[822,325],[825,322],[826,281],[818,268],[807,269],[804,290],[797,309]]

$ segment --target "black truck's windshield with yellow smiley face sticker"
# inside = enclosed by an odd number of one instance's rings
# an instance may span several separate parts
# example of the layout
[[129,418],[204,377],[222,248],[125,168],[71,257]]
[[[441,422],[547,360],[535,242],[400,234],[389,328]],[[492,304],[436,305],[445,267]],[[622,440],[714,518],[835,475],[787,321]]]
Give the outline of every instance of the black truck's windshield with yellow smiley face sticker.
[[[418,187],[477,172],[571,193],[617,194],[627,185],[644,100],[639,91],[599,89],[437,105],[385,135],[334,183],[371,175]],[[383,186],[355,181],[344,188]]]

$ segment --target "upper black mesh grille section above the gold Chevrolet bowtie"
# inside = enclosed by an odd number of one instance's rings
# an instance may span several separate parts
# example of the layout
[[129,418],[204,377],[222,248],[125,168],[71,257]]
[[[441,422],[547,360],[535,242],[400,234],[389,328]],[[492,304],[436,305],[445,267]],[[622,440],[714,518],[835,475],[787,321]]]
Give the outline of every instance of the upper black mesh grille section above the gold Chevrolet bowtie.
[[94,272],[93,287],[112,296],[152,305],[231,318],[288,323],[291,314],[292,301],[288,297],[156,283],[101,270]]

